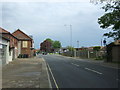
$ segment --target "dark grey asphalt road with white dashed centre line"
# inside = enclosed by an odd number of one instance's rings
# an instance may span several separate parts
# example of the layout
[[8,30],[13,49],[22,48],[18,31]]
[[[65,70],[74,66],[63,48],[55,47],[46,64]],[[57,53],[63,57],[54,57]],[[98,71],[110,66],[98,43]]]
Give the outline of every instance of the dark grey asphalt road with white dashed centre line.
[[58,55],[40,57],[48,65],[53,88],[118,88],[118,69]]

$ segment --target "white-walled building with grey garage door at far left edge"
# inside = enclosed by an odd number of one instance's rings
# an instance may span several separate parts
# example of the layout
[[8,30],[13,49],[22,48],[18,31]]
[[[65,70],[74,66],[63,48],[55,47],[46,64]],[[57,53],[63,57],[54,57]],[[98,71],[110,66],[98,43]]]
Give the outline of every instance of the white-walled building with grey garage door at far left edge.
[[0,66],[9,63],[9,43],[10,39],[0,35]]

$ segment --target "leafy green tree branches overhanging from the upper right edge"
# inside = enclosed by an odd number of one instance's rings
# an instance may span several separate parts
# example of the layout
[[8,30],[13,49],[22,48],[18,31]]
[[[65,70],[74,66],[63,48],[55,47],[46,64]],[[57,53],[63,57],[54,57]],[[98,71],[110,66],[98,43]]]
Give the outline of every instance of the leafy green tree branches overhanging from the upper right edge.
[[108,3],[102,7],[105,10],[103,16],[98,18],[98,23],[103,29],[111,28],[112,31],[105,33],[104,36],[112,37],[114,40],[120,39],[120,1]]

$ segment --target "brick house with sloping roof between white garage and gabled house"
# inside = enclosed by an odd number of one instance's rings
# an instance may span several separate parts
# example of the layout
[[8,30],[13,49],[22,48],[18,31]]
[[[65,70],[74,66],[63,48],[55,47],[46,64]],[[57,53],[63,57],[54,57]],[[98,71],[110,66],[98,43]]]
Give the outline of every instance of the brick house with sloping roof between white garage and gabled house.
[[10,32],[0,27],[0,34],[4,38],[7,38],[10,40],[9,42],[9,61],[14,60],[18,57],[18,39],[13,36]]

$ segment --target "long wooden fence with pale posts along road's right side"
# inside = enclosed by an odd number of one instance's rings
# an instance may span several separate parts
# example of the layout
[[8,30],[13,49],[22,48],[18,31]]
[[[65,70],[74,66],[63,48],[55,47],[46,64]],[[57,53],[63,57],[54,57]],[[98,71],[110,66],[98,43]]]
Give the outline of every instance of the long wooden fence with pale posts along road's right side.
[[70,57],[79,57],[79,58],[103,59],[105,56],[105,51],[94,51],[94,50],[68,51],[68,52],[64,52],[63,55]]

